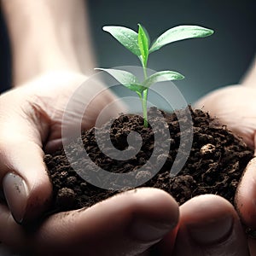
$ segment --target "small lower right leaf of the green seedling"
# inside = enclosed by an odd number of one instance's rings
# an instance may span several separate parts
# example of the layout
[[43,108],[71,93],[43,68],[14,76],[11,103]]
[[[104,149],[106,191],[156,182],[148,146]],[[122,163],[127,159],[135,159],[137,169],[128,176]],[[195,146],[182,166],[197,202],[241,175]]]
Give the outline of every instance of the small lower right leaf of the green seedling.
[[143,86],[150,87],[152,84],[158,83],[158,82],[165,82],[165,81],[172,81],[172,80],[180,80],[183,79],[183,75],[180,73],[177,73],[175,71],[170,70],[164,70],[157,73],[154,73],[148,79],[146,79],[143,82]]

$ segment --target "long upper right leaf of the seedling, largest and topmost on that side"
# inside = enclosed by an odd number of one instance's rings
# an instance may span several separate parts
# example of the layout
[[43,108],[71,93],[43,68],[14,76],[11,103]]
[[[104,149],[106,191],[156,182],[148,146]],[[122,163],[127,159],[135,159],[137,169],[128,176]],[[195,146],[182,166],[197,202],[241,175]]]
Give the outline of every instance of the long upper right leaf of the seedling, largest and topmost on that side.
[[202,26],[175,26],[160,35],[149,49],[149,53],[160,49],[166,44],[188,38],[205,38],[211,36],[213,30]]

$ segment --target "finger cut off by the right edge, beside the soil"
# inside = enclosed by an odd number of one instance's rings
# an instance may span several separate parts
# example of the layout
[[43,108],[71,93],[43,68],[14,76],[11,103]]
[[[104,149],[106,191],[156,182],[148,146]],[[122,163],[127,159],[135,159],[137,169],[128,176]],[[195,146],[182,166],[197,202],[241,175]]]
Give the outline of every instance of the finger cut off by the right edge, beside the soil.
[[242,222],[256,229],[256,157],[248,163],[237,188],[236,208]]

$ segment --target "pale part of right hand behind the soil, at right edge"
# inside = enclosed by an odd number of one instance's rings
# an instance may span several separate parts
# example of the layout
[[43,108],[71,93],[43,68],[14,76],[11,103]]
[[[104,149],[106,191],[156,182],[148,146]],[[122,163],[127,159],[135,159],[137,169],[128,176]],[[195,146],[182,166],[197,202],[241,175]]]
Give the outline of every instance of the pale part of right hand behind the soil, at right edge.
[[242,85],[216,90],[195,103],[196,108],[209,111],[231,131],[254,148],[256,130],[256,90]]

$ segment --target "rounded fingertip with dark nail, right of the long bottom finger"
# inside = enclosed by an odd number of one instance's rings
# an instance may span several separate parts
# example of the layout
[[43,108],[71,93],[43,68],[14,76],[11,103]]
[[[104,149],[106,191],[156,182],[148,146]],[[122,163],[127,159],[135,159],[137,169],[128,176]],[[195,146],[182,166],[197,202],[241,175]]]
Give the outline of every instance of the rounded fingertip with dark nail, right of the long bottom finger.
[[[184,205],[183,222],[198,244],[218,244],[230,236],[236,211],[230,202],[216,195],[201,195]],[[191,213],[192,212],[192,213]]]

